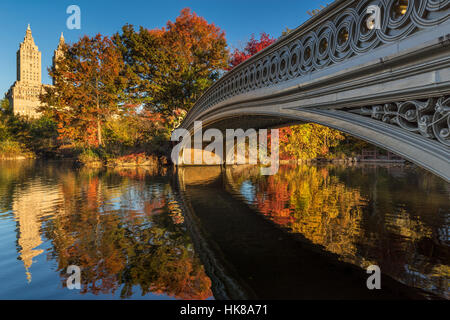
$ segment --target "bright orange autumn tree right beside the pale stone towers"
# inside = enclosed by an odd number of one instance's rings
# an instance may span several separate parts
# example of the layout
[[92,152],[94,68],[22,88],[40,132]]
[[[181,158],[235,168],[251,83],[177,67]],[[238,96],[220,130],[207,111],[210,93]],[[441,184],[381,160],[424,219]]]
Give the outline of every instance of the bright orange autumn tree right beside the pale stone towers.
[[40,111],[56,121],[62,138],[102,146],[104,123],[130,108],[124,94],[126,70],[114,43],[100,34],[84,36],[66,45],[49,74],[54,86],[41,95]]

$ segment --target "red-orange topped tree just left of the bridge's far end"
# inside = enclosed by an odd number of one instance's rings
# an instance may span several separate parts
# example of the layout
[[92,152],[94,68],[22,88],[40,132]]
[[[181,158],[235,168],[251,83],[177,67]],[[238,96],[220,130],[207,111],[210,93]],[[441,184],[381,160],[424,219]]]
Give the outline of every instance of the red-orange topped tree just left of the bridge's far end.
[[169,21],[165,29],[156,32],[171,60],[161,104],[188,111],[227,66],[225,32],[188,8],[175,22]]

